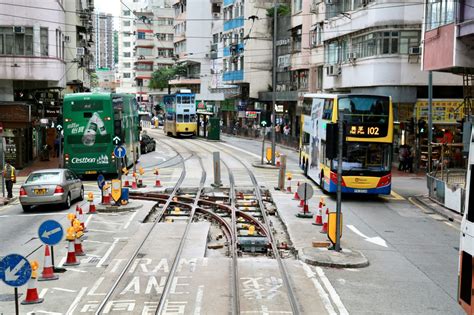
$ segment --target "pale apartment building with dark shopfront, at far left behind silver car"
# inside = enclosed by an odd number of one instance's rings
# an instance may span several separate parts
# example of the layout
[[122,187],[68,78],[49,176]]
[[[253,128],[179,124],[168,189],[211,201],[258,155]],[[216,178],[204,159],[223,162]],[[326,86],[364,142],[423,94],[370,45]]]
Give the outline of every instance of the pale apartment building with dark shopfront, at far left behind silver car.
[[87,88],[93,6],[92,0],[0,4],[1,12],[14,12],[0,16],[0,124],[5,159],[17,168],[44,145],[53,147],[62,93]]

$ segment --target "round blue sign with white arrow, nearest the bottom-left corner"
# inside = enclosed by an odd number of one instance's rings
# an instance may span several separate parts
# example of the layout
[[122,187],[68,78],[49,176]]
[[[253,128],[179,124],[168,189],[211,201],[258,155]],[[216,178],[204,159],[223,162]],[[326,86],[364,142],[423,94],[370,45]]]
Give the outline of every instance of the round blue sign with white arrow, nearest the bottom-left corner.
[[11,287],[21,287],[31,278],[31,266],[25,257],[17,254],[0,261],[0,279]]

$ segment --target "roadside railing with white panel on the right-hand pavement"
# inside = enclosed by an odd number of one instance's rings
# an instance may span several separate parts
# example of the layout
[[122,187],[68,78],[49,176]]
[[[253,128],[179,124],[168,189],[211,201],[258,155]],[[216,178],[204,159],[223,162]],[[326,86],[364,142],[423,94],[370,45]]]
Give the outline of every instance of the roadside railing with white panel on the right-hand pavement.
[[464,213],[466,170],[448,169],[426,174],[428,196],[444,207]]

